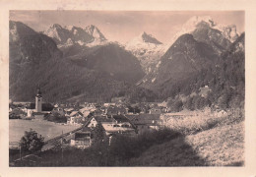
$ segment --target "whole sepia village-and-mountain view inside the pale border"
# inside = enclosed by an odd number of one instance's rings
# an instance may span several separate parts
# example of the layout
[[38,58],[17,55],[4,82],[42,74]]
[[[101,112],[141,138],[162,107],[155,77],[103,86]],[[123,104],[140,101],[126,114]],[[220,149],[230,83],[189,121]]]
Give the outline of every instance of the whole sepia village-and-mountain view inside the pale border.
[[10,166],[243,166],[244,11],[10,11]]

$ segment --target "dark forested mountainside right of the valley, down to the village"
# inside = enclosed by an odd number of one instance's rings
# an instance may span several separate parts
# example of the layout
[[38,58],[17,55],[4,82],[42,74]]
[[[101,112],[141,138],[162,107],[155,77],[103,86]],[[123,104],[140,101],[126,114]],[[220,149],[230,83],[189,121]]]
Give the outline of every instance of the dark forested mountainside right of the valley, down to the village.
[[221,54],[209,42],[181,35],[161,57],[157,72],[147,75],[140,85],[167,98],[172,111],[243,107],[244,33]]

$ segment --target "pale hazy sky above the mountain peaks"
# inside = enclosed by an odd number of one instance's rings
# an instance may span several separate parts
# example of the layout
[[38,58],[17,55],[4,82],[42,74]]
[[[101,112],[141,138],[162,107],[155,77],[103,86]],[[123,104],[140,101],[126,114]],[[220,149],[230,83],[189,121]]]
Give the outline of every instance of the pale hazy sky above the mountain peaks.
[[10,11],[10,20],[36,31],[53,24],[85,28],[95,25],[111,41],[125,43],[143,31],[163,43],[169,42],[193,16],[210,16],[214,22],[236,25],[244,31],[244,11]]

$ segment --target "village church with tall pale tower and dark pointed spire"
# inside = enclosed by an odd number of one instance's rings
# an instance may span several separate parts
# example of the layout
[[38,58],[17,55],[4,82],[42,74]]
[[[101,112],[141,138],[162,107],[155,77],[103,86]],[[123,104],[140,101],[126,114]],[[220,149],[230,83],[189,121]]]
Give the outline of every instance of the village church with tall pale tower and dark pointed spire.
[[35,95],[35,102],[31,102],[27,106],[27,116],[34,117],[35,119],[43,119],[44,115],[50,113],[52,109],[53,106],[50,103],[42,102],[41,91],[38,88]]

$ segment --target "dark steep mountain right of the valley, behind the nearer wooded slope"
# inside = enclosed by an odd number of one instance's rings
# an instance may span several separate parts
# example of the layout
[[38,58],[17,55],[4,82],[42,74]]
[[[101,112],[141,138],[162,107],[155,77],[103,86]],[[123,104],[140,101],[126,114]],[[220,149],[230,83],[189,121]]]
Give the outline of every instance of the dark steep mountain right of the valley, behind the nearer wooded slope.
[[143,79],[143,86],[152,89],[171,86],[171,83],[215,65],[217,59],[210,45],[195,40],[191,34],[183,34],[161,57],[157,72]]

